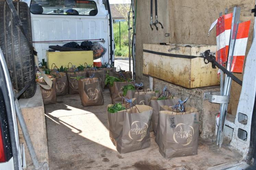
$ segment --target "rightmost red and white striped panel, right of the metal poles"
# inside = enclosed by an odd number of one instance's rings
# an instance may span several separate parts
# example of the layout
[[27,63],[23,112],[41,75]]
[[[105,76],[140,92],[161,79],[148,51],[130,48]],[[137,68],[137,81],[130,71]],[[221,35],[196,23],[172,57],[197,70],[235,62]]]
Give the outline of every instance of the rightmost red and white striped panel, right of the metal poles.
[[233,53],[233,61],[231,65],[231,72],[242,73],[244,66],[244,58],[246,45],[248,40],[249,28],[251,21],[242,22],[238,26],[235,47]]

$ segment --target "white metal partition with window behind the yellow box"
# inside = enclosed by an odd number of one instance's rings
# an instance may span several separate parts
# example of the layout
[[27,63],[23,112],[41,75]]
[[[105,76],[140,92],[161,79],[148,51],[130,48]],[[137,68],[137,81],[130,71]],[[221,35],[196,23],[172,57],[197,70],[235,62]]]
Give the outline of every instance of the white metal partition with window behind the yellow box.
[[22,0],[31,11],[33,46],[38,60],[50,45],[99,42],[107,49],[101,62],[114,60],[113,29],[108,0]]

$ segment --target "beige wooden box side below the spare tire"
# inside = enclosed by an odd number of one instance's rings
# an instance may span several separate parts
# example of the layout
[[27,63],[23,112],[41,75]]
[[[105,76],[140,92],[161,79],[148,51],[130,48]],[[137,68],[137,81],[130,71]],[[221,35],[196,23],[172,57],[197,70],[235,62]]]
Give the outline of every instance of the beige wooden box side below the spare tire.
[[[48,162],[49,164],[45,109],[39,85],[37,84],[36,93],[32,98],[20,99],[19,103],[38,161]],[[33,169],[33,163],[20,124],[18,124],[18,127],[20,143],[24,143],[25,146],[27,170],[30,170]]]

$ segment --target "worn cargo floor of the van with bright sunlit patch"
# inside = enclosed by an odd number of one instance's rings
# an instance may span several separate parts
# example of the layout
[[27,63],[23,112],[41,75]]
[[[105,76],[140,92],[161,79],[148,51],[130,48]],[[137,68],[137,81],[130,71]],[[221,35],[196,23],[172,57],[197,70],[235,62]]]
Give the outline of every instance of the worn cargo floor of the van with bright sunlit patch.
[[108,89],[103,93],[102,106],[83,107],[79,95],[58,97],[56,104],[45,106],[50,170],[222,169],[241,162],[241,155],[228,144],[219,149],[211,139],[199,140],[198,155],[165,159],[152,132],[150,148],[119,154],[107,129],[110,93]]

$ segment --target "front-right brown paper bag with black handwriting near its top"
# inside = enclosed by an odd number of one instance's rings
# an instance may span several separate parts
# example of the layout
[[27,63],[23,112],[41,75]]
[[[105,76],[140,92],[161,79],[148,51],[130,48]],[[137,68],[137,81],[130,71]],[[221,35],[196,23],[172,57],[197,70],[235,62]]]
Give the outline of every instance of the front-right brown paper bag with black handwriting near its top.
[[159,152],[165,158],[197,154],[199,117],[195,108],[188,112],[159,112]]

